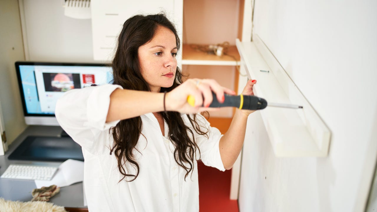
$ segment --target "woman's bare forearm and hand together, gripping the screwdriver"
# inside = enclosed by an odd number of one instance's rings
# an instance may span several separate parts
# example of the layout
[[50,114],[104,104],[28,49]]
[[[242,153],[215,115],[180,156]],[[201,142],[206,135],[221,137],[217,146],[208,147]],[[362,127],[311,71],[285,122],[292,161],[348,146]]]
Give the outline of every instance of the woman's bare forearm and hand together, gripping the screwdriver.
[[[216,111],[216,108],[205,108],[212,101],[212,92],[216,92],[218,101],[224,97],[224,92],[234,95],[234,91],[220,86],[215,80],[188,79],[172,91],[166,93],[133,91],[116,89],[110,95],[109,111],[106,122],[137,117],[150,112],[176,111],[193,114],[202,111]],[[195,97],[195,106],[187,102],[187,97]]]

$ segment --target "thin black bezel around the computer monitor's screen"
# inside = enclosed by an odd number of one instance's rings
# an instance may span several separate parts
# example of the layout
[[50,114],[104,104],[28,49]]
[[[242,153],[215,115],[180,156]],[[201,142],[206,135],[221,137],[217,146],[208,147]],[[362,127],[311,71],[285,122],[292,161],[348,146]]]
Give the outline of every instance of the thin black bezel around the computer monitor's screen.
[[21,95],[21,102],[23,113],[25,117],[55,117],[55,114],[36,114],[36,113],[28,113],[26,109],[26,101],[25,101],[25,92],[22,87],[21,81],[21,73],[20,73],[20,65],[34,65],[34,66],[107,66],[111,67],[110,64],[105,63],[64,63],[64,62],[36,62],[36,61],[16,61],[14,63],[16,68],[17,74],[17,81],[18,81],[18,88]]

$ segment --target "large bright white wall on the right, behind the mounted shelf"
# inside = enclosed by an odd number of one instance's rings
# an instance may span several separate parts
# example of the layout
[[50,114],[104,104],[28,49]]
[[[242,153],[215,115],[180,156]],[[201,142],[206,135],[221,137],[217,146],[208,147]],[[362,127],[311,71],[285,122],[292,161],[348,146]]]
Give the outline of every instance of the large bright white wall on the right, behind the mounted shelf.
[[363,211],[377,154],[377,2],[255,0],[254,29],[331,130],[326,158],[276,158],[258,113],[240,211]]

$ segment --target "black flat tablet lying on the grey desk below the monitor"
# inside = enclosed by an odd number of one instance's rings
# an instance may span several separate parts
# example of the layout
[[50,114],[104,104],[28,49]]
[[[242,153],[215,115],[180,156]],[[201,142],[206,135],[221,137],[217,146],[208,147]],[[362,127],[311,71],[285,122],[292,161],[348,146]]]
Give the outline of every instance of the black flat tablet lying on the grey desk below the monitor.
[[28,136],[8,157],[9,160],[84,161],[81,146],[63,131],[61,137]]

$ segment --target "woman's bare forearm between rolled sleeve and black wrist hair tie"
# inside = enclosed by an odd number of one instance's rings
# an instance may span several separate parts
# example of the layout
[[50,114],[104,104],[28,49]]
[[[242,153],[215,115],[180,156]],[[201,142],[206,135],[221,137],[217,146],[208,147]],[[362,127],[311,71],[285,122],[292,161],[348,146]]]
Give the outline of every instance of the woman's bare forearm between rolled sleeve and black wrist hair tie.
[[164,93],[115,89],[110,95],[106,122],[164,111]]

